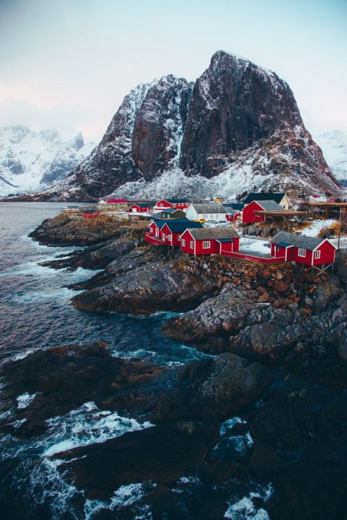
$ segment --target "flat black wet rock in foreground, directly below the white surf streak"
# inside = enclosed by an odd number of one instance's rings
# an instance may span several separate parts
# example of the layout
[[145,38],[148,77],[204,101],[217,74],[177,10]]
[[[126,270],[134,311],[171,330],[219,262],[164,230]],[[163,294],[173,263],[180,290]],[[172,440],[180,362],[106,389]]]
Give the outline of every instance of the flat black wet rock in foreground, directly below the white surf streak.
[[178,421],[57,453],[58,469],[89,499],[106,499],[121,485],[174,483],[198,469],[217,438],[212,422]]

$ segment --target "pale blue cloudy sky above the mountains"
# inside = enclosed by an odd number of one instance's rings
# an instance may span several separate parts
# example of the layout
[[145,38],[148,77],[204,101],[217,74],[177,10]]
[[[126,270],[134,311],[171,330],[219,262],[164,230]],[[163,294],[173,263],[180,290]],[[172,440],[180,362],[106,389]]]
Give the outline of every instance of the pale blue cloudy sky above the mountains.
[[100,139],[128,91],[223,49],[278,73],[307,129],[347,132],[346,0],[0,0],[0,124]]

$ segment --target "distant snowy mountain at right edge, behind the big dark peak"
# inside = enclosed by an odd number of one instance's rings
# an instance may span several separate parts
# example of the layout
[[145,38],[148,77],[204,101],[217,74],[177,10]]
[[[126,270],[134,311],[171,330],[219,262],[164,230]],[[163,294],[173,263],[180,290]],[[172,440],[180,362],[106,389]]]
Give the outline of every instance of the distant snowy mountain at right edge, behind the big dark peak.
[[341,130],[323,132],[316,138],[330,170],[342,186],[347,186],[347,135]]

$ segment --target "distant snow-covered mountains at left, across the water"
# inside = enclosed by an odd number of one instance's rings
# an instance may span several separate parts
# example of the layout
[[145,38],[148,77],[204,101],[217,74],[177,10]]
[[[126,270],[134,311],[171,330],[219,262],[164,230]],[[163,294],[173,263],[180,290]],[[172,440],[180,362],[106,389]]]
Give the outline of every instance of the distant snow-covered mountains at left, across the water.
[[24,125],[0,128],[0,196],[42,191],[66,177],[90,155],[78,130],[34,132]]

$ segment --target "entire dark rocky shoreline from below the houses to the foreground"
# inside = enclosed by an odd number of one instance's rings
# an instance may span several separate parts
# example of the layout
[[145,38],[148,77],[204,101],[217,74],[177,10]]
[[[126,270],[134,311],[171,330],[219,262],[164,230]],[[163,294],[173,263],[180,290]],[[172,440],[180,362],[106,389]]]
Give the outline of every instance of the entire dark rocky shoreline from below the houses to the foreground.
[[[87,245],[84,231],[67,223],[44,221],[31,236],[60,245],[75,236]],[[203,485],[229,490],[251,480],[271,483],[271,496],[255,499],[271,520],[343,519],[344,262],[335,275],[217,256],[196,264],[154,258],[139,238],[99,234],[97,243],[95,237],[90,248],[50,263],[103,269],[71,286],[84,291],[71,303],[82,311],[180,311],[164,324],[164,333],[210,356],[160,367],[112,357],[107,345],[94,343],[12,361],[1,369],[6,406],[23,392],[36,394],[28,408],[17,410],[15,418],[26,421],[12,435],[40,435],[49,417],[94,400],[100,409],[122,410],[153,426],[53,456],[62,460],[64,478],[88,499],[107,499],[120,485],[152,482],[153,510],[159,514],[164,507],[177,518],[174,485],[194,475]],[[241,422],[222,431],[235,415]],[[11,426],[5,419],[0,428]],[[226,444],[245,433],[251,444],[231,456]],[[201,505],[196,518],[221,519],[226,508],[226,500],[208,509]],[[130,512],[125,509],[124,518]]]

